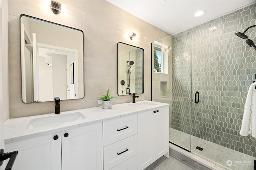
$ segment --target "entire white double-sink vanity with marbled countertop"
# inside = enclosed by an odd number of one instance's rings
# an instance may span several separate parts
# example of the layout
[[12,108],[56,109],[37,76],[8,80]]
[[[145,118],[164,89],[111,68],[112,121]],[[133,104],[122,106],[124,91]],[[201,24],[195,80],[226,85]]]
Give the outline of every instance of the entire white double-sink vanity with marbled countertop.
[[142,170],[168,157],[169,106],[140,101],[92,107],[78,110],[85,119],[34,129],[26,127],[40,115],[9,119],[5,152],[18,150],[13,170]]

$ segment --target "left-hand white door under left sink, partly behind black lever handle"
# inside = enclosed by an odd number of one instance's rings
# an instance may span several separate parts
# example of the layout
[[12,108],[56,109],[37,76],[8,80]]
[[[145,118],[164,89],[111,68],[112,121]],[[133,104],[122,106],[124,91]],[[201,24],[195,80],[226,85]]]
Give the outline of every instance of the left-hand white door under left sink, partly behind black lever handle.
[[[58,139],[54,140],[54,136]],[[18,150],[12,170],[61,170],[60,132],[8,143],[5,152]]]

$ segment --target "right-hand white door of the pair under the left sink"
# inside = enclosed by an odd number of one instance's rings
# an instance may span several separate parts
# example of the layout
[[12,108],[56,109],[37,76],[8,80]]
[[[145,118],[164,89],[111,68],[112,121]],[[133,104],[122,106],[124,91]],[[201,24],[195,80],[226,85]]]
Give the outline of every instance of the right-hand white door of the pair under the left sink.
[[103,169],[102,122],[62,131],[61,137],[62,170]]

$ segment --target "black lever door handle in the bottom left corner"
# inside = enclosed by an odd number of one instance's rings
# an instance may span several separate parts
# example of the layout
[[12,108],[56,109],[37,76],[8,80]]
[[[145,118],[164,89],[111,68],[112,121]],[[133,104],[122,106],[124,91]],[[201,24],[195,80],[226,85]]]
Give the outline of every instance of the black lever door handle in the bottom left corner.
[[18,150],[14,151],[14,152],[6,152],[4,153],[4,149],[0,150],[0,166],[3,164],[4,160],[10,158],[10,160],[8,161],[5,170],[12,170],[12,166],[15,162],[16,156],[18,154]]

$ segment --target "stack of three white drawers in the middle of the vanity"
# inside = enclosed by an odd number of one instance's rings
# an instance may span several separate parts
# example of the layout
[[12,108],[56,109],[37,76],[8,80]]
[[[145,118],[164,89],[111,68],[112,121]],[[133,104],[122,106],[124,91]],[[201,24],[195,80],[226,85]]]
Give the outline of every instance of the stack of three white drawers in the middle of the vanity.
[[104,170],[138,168],[137,114],[103,122]]

